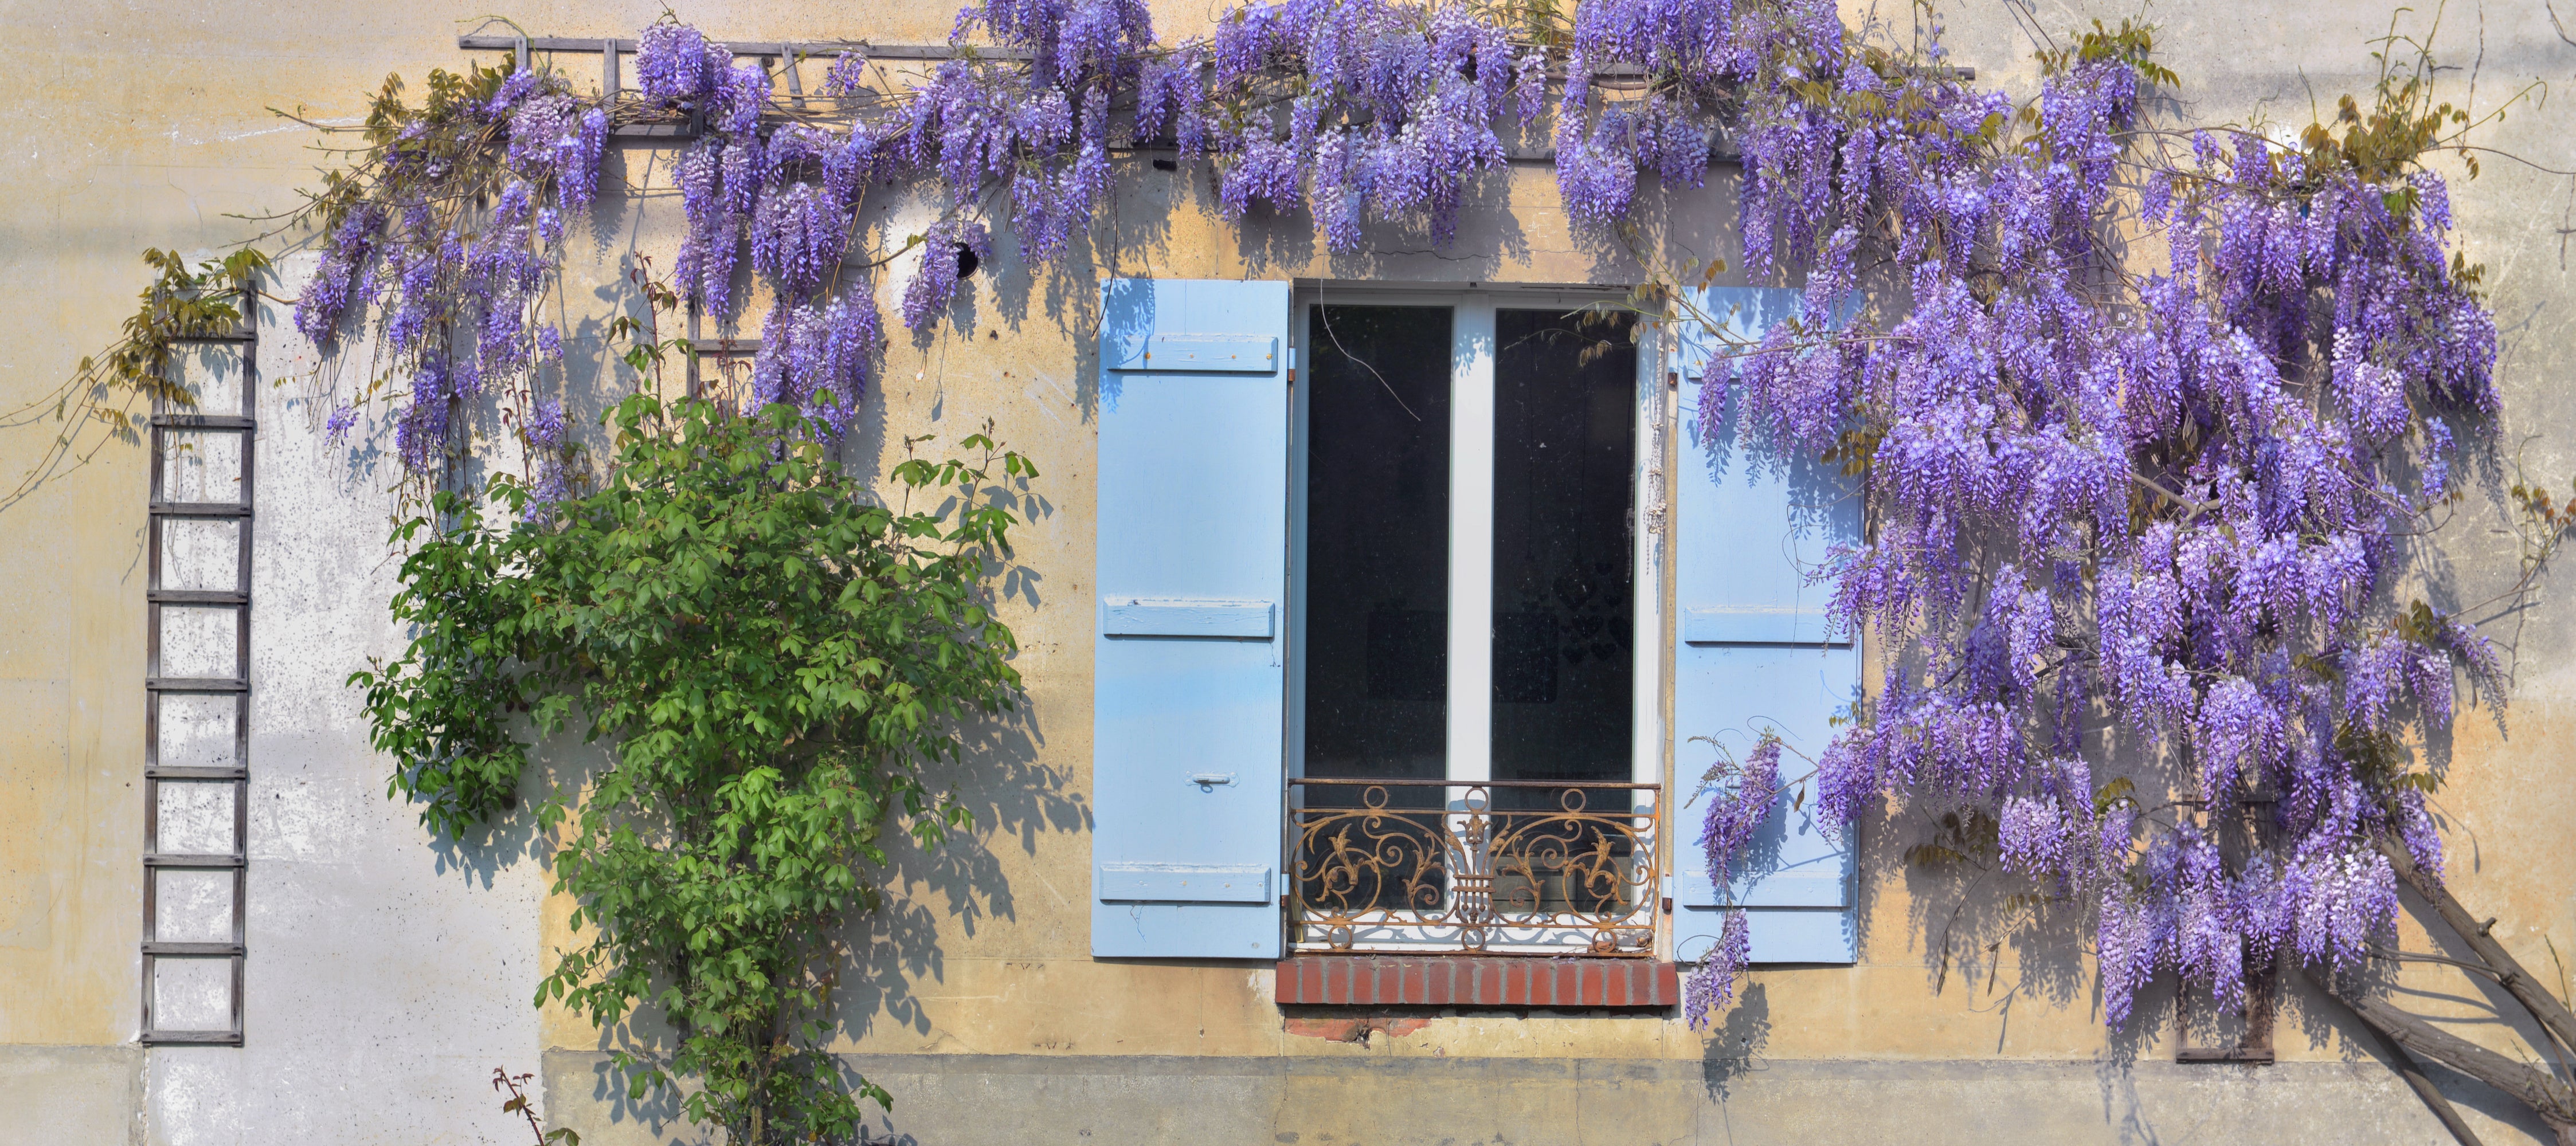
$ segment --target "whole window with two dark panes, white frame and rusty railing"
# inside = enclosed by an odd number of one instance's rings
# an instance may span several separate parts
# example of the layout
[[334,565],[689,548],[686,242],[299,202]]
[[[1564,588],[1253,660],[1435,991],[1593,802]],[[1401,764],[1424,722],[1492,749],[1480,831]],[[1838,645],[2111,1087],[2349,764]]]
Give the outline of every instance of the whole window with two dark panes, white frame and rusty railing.
[[1587,301],[1298,306],[1298,948],[1654,943],[1636,531],[1654,391],[1631,319]]

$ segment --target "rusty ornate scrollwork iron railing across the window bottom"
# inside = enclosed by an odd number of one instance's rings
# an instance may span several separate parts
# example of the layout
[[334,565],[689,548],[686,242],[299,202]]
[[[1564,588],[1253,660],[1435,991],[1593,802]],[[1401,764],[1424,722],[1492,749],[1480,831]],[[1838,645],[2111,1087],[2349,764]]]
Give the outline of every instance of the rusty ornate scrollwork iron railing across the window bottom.
[[1651,955],[1662,785],[1288,780],[1303,950]]

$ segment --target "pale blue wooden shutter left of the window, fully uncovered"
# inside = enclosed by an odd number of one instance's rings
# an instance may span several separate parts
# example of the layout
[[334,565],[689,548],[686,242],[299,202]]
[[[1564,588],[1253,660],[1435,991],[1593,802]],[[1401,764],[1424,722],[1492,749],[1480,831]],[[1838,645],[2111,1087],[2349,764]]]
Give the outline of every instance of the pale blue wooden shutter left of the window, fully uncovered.
[[1092,955],[1278,958],[1288,283],[1100,319]]

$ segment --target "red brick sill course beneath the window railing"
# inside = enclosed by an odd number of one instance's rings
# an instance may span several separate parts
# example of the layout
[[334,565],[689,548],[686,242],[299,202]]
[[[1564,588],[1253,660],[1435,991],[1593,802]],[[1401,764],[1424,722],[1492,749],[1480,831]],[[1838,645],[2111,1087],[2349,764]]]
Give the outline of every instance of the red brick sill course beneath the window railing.
[[1283,958],[1278,1002],[1332,1007],[1672,1007],[1682,976],[1643,958]]

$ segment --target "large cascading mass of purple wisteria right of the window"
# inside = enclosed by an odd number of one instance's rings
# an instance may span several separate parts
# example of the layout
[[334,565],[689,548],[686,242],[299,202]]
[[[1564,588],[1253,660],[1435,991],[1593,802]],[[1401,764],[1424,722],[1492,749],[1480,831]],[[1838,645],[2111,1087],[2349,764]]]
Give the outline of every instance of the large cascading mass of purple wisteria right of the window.
[[[2156,155],[2146,49],[2097,28],[2020,111],[1811,62],[1808,111],[1747,131],[1747,258],[1801,255],[1806,314],[1844,314],[1870,242],[1906,270],[1904,317],[1868,340],[1780,324],[1703,394],[1865,487],[1870,538],[1821,579],[1888,672],[1816,760],[1826,819],[1888,796],[1991,816],[2002,868],[2092,904],[2115,1025],[2159,971],[2233,1002],[2280,950],[2362,958],[2396,914],[2383,847],[2442,865],[2432,778],[2396,744],[2447,726],[2455,667],[2504,700],[2476,628],[2385,603],[2455,435],[2496,412],[2442,180],[2321,131]],[[2123,178],[2156,273],[2102,250]],[[2097,780],[2112,760],[2164,767],[2172,798]],[[1713,870],[1772,803],[1716,801]],[[2275,842],[2231,868],[2218,837],[2254,822]]]

